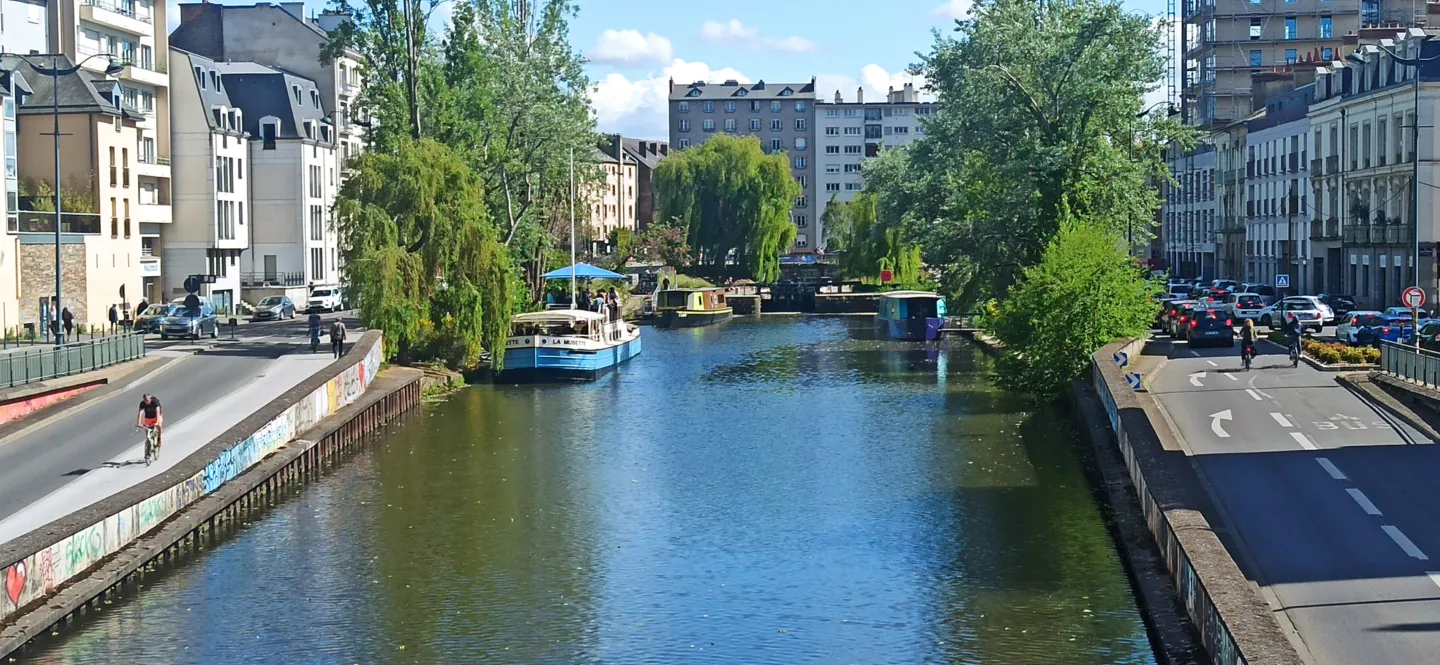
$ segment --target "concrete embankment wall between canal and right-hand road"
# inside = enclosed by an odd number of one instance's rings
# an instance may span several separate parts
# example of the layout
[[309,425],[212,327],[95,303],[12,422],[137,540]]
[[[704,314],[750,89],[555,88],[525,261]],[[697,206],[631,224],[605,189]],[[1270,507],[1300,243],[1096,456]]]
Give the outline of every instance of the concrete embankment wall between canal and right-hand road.
[[1185,453],[1164,449],[1142,403],[1149,397],[1135,393],[1112,360],[1120,350],[1138,358],[1142,348],[1136,340],[1096,351],[1090,380],[1185,612],[1217,665],[1300,665],[1270,606],[1205,518],[1210,498]]

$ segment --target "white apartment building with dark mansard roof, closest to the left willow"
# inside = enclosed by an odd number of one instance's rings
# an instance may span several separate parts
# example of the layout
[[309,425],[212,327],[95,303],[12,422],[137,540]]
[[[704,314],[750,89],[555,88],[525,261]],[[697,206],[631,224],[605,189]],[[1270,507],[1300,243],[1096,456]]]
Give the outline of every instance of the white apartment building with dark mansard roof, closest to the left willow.
[[[249,250],[240,256],[245,302],[307,295],[340,284],[340,239],[331,207],[340,187],[340,138],[320,86],[255,62],[215,62],[249,134]],[[236,239],[236,243],[239,240]],[[229,246],[228,246],[229,248]]]

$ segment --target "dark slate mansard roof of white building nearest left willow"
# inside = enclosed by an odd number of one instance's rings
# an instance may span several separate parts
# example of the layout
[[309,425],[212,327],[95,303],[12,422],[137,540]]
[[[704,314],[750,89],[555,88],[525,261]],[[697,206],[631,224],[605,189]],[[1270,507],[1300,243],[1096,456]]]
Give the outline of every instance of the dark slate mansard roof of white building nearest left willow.
[[[279,118],[275,138],[282,141],[308,138],[304,132],[307,119],[328,122],[324,108],[315,101],[320,88],[314,81],[255,62],[216,62],[215,69],[220,72],[235,107],[243,111],[245,131],[252,137],[262,135],[261,121],[265,118]],[[320,141],[320,137],[314,140]]]

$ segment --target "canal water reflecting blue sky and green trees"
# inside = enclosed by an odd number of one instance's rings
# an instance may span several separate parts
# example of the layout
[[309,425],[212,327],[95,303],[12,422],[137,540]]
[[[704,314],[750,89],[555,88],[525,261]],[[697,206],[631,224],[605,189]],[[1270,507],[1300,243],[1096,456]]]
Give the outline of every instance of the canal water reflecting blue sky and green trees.
[[1152,664],[1076,428],[864,318],[431,406],[42,664]]

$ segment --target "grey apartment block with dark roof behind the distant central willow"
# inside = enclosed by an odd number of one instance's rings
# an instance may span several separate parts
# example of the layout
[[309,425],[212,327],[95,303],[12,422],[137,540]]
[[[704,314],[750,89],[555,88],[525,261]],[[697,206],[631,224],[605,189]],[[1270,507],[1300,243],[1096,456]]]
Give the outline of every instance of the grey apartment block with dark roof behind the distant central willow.
[[806,83],[670,81],[670,145],[685,150],[716,132],[757,137],[768,153],[785,153],[801,196],[791,206],[795,253],[821,245],[815,220],[815,79]]

